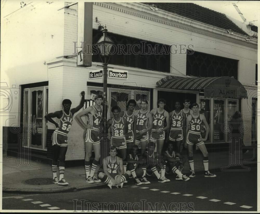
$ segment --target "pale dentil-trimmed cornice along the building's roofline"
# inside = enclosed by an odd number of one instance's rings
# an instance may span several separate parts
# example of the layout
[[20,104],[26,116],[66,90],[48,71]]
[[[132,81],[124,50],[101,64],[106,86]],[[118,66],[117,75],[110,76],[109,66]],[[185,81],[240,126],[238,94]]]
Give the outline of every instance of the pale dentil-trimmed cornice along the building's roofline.
[[[250,42],[245,42],[246,35],[235,33],[233,35],[227,34],[225,29],[208,25],[202,22],[198,22],[193,19],[189,19],[184,16],[177,15],[175,13],[167,12],[158,9],[153,11],[149,9],[149,6],[142,3],[102,3],[94,2],[94,5],[101,6],[110,10],[115,10],[118,12],[126,13],[139,18],[151,20],[153,22],[165,24],[172,27],[178,27],[183,30],[190,32],[202,34],[216,39],[221,39],[226,42],[235,43],[238,45],[243,45],[246,47],[251,47],[257,49],[257,39],[250,38]],[[128,10],[126,8],[129,8]],[[134,10],[134,11],[133,11]],[[140,11],[140,13],[138,12]],[[186,26],[184,26],[186,25]],[[196,29],[194,29],[196,28]],[[207,32],[205,32],[207,31]],[[217,34],[217,35],[216,35]]]

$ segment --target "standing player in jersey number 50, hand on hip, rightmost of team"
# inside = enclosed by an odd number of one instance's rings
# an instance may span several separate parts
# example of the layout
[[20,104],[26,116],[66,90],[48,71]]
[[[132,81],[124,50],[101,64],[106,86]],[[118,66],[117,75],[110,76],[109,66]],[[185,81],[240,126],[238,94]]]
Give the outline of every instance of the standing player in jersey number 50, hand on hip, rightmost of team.
[[[192,113],[187,117],[186,121],[186,142],[184,144],[185,148],[188,146],[189,152],[189,163],[191,167],[191,175],[189,177],[195,177],[194,162],[193,162],[193,145],[196,144],[203,154],[203,165],[204,165],[204,177],[216,177],[216,175],[211,174],[209,171],[209,157],[206,146],[203,141],[207,140],[209,134],[209,125],[203,114],[199,114],[199,105],[197,103],[192,104]],[[201,124],[204,123],[206,126],[205,137],[202,138],[200,135]]]

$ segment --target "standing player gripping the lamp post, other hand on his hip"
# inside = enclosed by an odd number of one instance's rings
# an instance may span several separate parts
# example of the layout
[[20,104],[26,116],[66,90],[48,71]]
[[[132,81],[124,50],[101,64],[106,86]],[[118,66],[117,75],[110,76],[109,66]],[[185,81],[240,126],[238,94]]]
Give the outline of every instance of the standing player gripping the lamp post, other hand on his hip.
[[[101,105],[101,103],[103,102],[103,96],[98,94],[95,96],[94,100],[94,106],[89,106],[76,115],[77,120],[85,128],[83,137],[85,140],[86,149],[85,172],[87,183],[101,182],[101,180],[94,176],[94,173],[100,159],[100,134],[102,130],[100,121],[102,119],[103,112],[103,106]],[[105,103],[105,105],[107,105],[107,103]],[[87,115],[88,124],[85,124],[81,119],[81,117],[85,115]],[[94,150],[95,158],[92,163],[91,172],[89,172],[92,149]]]

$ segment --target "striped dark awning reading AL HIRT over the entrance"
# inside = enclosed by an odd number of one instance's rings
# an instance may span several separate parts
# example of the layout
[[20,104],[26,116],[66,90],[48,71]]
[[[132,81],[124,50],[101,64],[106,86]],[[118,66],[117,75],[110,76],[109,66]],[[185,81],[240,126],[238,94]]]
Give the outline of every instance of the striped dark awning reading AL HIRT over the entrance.
[[246,89],[232,77],[167,76],[156,83],[159,88],[204,90],[204,97],[247,98]]

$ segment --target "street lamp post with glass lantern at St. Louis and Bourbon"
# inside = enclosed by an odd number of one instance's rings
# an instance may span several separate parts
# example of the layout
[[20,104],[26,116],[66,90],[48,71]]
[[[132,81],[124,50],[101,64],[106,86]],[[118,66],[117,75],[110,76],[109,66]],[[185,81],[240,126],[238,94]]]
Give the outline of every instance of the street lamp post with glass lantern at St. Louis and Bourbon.
[[103,36],[98,40],[97,46],[99,48],[99,55],[103,62],[103,117],[104,117],[104,127],[103,133],[107,134],[107,106],[104,104],[107,101],[107,64],[110,57],[110,53],[114,42],[112,39],[107,36],[107,27],[104,25],[104,29],[102,30]]

